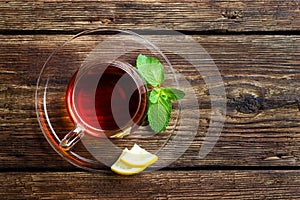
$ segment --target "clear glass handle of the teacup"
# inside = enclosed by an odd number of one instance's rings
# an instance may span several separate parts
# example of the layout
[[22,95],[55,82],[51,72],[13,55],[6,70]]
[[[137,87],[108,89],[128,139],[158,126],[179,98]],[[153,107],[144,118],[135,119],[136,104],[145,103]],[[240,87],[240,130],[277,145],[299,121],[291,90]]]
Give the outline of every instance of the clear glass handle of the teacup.
[[84,132],[82,128],[75,126],[59,143],[59,145],[65,150],[69,151],[77,142],[80,141]]

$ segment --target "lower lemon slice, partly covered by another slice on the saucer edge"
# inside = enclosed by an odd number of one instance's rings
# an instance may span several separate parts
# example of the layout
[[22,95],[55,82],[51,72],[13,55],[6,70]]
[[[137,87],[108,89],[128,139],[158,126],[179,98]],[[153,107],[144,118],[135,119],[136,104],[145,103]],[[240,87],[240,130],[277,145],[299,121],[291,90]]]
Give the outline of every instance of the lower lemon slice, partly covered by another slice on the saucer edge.
[[133,175],[136,173],[139,173],[143,171],[146,167],[131,167],[124,162],[121,161],[121,158],[126,155],[129,152],[129,150],[126,148],[123,150],[121,156],[118,158],[118,160],[111,166],[111,170],[114,171],[117,174],[121,175]]

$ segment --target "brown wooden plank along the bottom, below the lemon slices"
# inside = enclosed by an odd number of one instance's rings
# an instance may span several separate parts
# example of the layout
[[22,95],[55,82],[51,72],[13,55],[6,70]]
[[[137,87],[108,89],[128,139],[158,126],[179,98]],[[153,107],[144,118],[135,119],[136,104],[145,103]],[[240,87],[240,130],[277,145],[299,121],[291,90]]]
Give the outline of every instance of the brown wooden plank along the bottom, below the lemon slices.
[[2,173],[3,199],[299,199],[299,171]]

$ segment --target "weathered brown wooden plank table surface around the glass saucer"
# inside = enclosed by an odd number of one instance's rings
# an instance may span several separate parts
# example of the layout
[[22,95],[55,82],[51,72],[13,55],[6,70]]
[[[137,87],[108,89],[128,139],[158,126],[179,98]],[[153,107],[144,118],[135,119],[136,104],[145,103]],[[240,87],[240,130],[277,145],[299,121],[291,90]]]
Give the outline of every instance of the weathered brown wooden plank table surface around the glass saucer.
[[[0,1],[1,199],[300,199],[300,2]],[[90,28],[168,28],[211,55],[227,92],[214,149],[199,159],[210,104],[198,134],[169,167],[118,176],[91,173],[53,151],[38,125],[36,80],[51,51]],[[184,66],[181,68],[185,71]]]

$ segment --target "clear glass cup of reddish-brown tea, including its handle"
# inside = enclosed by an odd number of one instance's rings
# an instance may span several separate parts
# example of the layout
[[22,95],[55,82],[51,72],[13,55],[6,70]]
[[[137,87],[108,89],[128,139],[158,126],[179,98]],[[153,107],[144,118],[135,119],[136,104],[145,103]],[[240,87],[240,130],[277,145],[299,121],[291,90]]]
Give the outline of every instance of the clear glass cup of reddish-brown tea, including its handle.
[[66,103],[74,129],[60,146],[68,150],[84,134],[96,137],[129,134],[143,119],[146,88],[128,63],[94,64],[73,75]]

